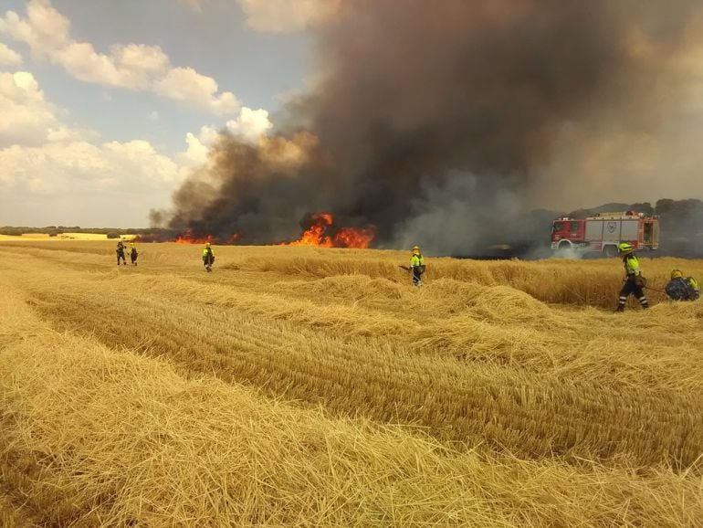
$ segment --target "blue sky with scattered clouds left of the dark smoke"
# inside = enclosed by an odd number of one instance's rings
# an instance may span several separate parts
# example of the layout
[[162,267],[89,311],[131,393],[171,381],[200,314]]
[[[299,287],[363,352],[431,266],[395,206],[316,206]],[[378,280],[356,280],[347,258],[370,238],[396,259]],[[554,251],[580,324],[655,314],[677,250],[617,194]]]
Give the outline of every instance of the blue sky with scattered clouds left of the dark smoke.
[[304,88],[320,3],[5,0],[0,225],[148,225],[215,131],[255,141]]

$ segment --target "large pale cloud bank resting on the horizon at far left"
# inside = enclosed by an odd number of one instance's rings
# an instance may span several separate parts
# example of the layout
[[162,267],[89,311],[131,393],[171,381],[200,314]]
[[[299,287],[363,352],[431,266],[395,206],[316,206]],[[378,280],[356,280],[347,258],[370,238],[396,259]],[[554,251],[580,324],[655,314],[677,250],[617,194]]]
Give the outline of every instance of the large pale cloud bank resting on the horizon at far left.
[[166,206],[204,157],[101,142],[64,113],[31,73],[0,72],[0,225],[146,226],[149,209]]

